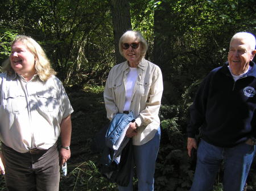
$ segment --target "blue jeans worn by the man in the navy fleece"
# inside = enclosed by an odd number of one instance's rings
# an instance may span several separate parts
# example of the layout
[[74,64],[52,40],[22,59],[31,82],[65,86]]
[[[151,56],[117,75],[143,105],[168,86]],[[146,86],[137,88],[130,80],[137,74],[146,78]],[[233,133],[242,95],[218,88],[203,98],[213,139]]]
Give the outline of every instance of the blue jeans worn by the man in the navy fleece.
[[224,161],[224,191],[242,191],[255,155],[255,146],[241,143],[232,148],[216,147],[201,140],[191,191],[210,191]]

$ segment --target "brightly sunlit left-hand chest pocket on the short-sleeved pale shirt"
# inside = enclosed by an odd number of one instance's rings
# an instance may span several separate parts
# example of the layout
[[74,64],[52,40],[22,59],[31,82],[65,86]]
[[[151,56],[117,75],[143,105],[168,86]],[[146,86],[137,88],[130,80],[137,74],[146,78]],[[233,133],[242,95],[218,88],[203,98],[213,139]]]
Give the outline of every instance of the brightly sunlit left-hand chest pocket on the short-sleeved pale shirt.
[[4,107],[8,113],[18,113],[19,111],[27,109],[26,97],[24,92],[19,90],[4,92]]

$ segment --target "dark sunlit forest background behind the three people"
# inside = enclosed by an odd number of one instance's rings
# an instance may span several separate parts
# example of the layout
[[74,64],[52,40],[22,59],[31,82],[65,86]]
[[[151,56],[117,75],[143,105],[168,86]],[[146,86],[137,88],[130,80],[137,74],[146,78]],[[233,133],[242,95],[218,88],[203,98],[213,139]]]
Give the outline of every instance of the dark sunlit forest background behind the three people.
[[[186,150],[189,106],[201,80],[227,60],[230,38],[240,31],[255,35],[255,7],[254,0],[1,0],[0,63],[15,35],[31,36],[46,51],[75,109],[72,157],[60,190],[117,190],[100,176],[90,143],[108,123],[102,92],[109,70],[123,60],[117,43],[129,29],[142,32],[146,59],[163,72],[155,190],[189,190],[195,171]],[[221,177],[220,170],[216,191],[222,190]],[[255,180],[253,164],[247,190],[256,190]],[[5,190],[3,178],[0,185]]]

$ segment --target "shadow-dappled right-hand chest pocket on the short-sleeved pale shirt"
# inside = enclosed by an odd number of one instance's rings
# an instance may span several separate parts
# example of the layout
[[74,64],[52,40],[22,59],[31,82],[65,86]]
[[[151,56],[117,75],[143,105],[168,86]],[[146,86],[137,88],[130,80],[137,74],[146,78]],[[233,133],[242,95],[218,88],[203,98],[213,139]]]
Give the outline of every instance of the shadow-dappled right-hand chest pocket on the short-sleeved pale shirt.
[[53,112],[59,110],[59,93],[55,88],[47,88],[36,92],[38,107],[43,111]]

